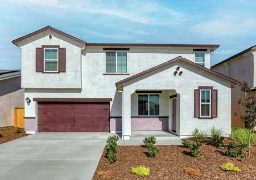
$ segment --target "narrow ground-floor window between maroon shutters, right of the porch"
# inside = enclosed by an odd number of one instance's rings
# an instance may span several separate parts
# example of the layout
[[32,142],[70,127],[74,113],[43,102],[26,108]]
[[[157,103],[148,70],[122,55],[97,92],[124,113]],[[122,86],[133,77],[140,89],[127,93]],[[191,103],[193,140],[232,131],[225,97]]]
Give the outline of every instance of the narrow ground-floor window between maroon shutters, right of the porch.
[[210,117],[211,116],[211,90],[201,89],[200,90],[200,117]]

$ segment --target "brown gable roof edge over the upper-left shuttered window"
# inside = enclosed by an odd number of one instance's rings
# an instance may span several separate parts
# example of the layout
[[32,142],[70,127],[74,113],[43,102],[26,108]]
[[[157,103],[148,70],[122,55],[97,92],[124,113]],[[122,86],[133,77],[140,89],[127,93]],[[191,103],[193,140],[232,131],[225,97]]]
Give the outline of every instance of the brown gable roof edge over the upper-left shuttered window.
[[39,33],[42,33],[42,32],[47,31],[47,30],[51,30],[51,31],[53,31],[53,32],[59,33],[60,35],[63,35],[63,36],[68,37],[68,38],[71,38],[72,40],[77,41],[77,42],[80,42],[81,44],[86,44],[85,41],[80,40],[79,38],[74,37],[74,36],[71,36],[71,35],[69,35],[69,34],[67,34],[67,33],[65,33],[65,32],[62,32],[62,31],[58,30],[58,29],[55,29],[55,28],[53,28],[53,27],[51,27],[51,26],[49,26],[49,25],[48,25],[47,27],[44,27],[44,28],[42,28],[42,29],[39,29],[38,31],[29,33],[28,35],[25,35],[25,36],[16,38],[15,40],[13,40],[13,41],[11,41],[11,42],[13,42],[13,44],[16,45],[16,43],[19,42],[19,41],[25,40],[25,39],[28,38],[28,37],[32,37],[32,36],[38,35]]

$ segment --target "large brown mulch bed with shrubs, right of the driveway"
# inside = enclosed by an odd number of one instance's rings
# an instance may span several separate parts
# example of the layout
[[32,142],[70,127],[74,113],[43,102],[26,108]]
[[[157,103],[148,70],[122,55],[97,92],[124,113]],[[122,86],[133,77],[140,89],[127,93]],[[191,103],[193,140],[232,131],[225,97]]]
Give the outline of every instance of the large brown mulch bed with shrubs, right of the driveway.
[[[225,138],[224,144],[229,141],[229,138]],[[205,139],[200,148],[203,156],[197,158],[187,155],[188,149],[182,145],[158,145],[159,154],[155,158],[147,157],[147,149],[141,146],[121,146],[117,162],[109,164],[104,151],[93,179],[106,179],[98,174],[100,171],[109,172],[109,179],[256,179],[256,145],[251,148],[250,157],[244,151],[245,159],[241,162],[224,155],[226,145],[216,148],[207,142]],[[226,162],[233,162],[241,172],[222,171],[220,165]],[[131,167],[139,165],[150,168],[148,177],[137,177],[130,173]],[[200,175],[189,175],[184,168],[197,169]]]

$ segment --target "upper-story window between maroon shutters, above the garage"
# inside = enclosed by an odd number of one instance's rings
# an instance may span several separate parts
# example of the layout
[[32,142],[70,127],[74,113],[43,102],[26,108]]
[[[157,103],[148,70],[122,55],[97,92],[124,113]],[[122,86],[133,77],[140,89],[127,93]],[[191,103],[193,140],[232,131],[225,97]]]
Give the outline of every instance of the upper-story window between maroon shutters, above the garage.
[[57,48],[44,48],[44,71],[57,72],[58,58]]

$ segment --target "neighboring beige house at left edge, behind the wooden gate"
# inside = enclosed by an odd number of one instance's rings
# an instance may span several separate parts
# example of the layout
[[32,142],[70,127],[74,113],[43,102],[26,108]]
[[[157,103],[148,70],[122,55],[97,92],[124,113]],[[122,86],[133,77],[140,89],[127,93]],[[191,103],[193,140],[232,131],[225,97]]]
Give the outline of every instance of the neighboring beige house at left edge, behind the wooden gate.
[[0,127],[14,126],[14,108],[24,107],[19,70],[0,70]]

